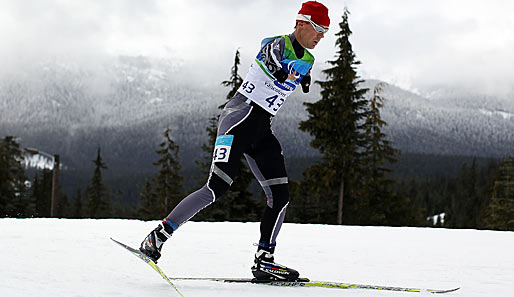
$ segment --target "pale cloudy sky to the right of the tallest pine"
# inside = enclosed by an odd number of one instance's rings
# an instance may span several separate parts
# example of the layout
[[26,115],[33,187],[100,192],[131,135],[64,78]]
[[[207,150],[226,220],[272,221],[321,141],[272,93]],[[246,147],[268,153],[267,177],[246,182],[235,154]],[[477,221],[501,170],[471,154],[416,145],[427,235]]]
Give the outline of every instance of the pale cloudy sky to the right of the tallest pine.
[[384,1],[350,20],[362,71],[410,89],[452,85],[513,92],[514,4],[509,1]]

